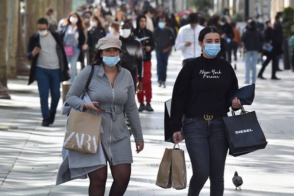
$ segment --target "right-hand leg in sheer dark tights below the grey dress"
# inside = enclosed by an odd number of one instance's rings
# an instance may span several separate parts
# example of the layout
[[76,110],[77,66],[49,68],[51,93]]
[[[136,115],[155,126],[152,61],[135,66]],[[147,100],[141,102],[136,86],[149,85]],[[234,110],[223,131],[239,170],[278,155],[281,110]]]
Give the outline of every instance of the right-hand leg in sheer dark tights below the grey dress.
[[113,183],[109,196],[123,196],[131,176],[131,164],[120,164],[111,167]]

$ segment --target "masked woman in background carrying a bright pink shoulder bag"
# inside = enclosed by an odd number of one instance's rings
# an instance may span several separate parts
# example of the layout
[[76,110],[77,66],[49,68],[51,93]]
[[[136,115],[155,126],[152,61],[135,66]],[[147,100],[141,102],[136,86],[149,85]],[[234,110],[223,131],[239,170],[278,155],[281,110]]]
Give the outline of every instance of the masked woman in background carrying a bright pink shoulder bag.
[[72,12],[62,24],[62,30],[60,34],[63,37],[63,43],[65,49],[67,49],[67,60],[71,64],[71,82],[73,82],[76,75],[76,62],[83,49],[86,49],[85,45],[85,26],[80,16]]

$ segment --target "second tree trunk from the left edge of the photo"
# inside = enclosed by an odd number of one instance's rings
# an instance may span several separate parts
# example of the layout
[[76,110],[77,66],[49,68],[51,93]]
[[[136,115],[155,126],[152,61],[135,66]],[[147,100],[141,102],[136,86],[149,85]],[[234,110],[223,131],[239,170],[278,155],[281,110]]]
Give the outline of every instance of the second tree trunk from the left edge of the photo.
[[7,34],[7,77],[16,78],[17,76],[17,48],[18,48],[18,14],[20,12],[19,0],[8,1],[8,34]]

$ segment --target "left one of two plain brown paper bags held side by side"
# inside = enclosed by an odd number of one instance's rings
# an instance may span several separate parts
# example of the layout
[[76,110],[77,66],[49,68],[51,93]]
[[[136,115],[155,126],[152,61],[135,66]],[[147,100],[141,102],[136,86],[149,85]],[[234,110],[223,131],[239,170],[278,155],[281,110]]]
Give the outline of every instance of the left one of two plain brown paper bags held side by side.
[[171,182],[172,149],[166,148],[157,173],[156,185],[161,188],[172,188]]

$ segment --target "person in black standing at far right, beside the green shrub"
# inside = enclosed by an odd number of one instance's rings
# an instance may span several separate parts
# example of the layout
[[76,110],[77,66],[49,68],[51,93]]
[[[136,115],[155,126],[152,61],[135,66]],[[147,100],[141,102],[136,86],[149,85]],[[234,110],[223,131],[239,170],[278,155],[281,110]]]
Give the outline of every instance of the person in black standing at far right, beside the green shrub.
[[275,22],[273,24],[273,46],[274,46],[274,54],[276,55],[276,71],[282,71],[279,68],[279,58],[281,54],[283,54],[283,28],[281,25],[281,16],[276,15]]

